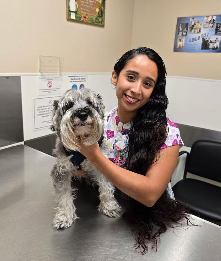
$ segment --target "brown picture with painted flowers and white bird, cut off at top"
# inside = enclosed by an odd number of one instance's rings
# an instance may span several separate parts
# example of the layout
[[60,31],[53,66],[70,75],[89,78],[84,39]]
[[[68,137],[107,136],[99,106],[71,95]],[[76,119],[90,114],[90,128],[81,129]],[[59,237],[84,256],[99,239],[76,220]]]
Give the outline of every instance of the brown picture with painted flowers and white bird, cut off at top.
[[67,0],[67,20],[104,26],[105,0]]

